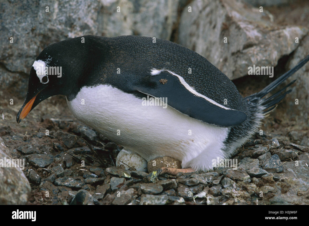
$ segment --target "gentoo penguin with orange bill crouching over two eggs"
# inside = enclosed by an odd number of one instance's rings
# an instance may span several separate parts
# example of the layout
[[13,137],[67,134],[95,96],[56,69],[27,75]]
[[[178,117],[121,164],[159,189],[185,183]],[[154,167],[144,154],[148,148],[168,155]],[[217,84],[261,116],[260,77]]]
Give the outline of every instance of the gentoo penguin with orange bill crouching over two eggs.
[[[250,138],[286,87],[265,97],[309,60],[243,98],[207,59],[176,43],[87,35],[47,46],[36,58],[18,123],[44,99],[65,95],[81,122],[147,161],[169,156],[211,170]],[[61,72],[59,73],[55,73]]]

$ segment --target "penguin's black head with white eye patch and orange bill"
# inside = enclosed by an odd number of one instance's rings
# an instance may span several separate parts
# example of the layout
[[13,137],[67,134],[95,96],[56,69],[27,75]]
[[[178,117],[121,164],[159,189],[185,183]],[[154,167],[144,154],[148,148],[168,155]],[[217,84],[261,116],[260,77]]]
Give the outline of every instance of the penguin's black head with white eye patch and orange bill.
[[17,123],[41,101],[54,95],[72,95],[83,71],[83,61],[78,57],[80,54],[76,51],[76,45],[78,42],[74,43],[72,39],[57,42],[39,54],[30,70],[28,91],[16,116]]

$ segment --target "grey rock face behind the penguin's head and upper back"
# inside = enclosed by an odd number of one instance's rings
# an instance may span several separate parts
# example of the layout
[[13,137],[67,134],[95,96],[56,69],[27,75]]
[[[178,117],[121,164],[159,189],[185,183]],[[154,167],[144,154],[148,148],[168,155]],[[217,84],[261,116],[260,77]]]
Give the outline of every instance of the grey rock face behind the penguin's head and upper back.
[[178,1],[2,1],[0,88],[11,86],[24,95],[40,51],[67,38],[135,34],[169,39],[177,21]]

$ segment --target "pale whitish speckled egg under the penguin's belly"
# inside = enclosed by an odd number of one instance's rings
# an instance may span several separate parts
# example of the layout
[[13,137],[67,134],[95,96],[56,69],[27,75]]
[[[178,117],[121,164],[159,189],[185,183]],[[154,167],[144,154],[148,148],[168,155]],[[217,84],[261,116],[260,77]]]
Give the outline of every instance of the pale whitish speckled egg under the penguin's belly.
[[126,170],[131,167],[137,171],[147,172],[147,161],[134,151],[126,151],[125,149],[122,149],[116,158],[116,167],[119,167],[120,165],[123,165]]

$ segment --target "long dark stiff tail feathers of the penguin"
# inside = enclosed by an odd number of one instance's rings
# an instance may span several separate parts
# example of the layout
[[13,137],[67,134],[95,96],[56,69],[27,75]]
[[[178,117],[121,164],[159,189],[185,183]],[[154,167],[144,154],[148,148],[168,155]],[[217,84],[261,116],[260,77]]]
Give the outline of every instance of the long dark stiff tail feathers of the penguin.
[[281,102],[281,100],[292,90],[286,91],[287,87],[290,87],[295,81],[293,80],[289,84],[287,84],[284,88],[276,92],[275,94],[271,95],[270,97],[265,97],[268,93],[273,91],[276,87],[278,87],[281,83],[283,83],[287,78],[289,78],[291,75],[293,75],[296,71],[298,71],[301,67],[303,67],[307,62],[309,61],[309,55],[307,55],[303,60],[301,60],[295,67],[293,67],[290,71],[287,71],[283,75],[281,75],[279,78],[277,78],[275,81],[270,83],[268,86],[266,86],[264,89],[262,89],[260,92],[252,94],[246,99],[248,99],[251,103],[256,103],[261,107],[261,111],[264,115],[267,113],[273,111],[277,104]]

